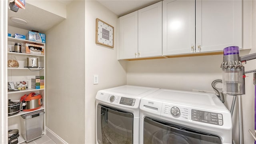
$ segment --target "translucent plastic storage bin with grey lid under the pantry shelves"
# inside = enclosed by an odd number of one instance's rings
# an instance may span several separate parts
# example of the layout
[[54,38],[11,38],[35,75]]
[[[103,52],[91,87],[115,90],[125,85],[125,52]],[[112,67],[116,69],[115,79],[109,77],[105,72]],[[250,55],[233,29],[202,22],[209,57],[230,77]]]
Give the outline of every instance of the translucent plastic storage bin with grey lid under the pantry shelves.
[[20,115],[24,123],[22,128],[22,136],[25,138],[26,142],[30,142],[37,138],[42,137],[43,133],[43,122],[44,122],[44,111],[38,110],[36,112],[30,112],[28,114]]

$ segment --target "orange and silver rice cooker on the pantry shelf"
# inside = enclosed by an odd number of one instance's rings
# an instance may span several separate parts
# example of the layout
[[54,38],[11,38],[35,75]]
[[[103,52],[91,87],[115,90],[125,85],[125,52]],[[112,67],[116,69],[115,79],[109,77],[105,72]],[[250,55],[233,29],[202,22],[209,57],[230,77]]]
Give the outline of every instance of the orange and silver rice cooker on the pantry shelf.
[[34,92],[31,92],[28,95],[24,95],[20,98],[21,102],[21,110],[25,112],[37,110],[41,107],[43,104],[43,99],[41,94],[36,94]]

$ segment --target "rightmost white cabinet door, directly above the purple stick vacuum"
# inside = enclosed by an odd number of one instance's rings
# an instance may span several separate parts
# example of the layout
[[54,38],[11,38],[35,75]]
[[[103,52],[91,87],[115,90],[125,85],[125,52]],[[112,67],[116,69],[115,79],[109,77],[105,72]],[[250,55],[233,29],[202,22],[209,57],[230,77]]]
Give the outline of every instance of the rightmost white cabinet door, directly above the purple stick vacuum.
[[196,0],[196,52],[227,46],[242,48],[241,0]]

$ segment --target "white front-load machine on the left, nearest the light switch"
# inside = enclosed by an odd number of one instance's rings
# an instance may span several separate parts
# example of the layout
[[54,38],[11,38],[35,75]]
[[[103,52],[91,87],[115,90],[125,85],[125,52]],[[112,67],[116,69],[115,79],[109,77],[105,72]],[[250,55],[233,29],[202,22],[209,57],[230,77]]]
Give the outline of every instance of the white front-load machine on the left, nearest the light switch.
[[159,88],[118,86],[96,95],[96,143],[138,144],[140,99]]

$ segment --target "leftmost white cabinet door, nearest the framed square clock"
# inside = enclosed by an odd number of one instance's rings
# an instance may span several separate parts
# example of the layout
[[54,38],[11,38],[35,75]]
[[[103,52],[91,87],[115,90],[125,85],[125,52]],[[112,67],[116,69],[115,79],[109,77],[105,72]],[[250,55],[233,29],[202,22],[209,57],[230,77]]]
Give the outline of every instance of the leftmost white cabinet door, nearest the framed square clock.
[[119,18],[119,59],[138,56],[138,11]]

